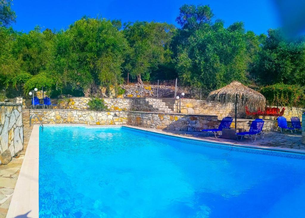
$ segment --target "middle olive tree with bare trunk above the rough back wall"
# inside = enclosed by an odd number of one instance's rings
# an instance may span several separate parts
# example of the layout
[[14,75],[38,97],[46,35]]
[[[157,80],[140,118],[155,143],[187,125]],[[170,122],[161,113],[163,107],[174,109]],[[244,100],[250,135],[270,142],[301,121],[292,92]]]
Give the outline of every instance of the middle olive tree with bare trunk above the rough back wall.
[[170,40],[175,28],[167,23],[140,22],[128,23],[124,35],[130,49],[124,69],[138,82],[149,80],[152,71],[160,64],[171,61]]

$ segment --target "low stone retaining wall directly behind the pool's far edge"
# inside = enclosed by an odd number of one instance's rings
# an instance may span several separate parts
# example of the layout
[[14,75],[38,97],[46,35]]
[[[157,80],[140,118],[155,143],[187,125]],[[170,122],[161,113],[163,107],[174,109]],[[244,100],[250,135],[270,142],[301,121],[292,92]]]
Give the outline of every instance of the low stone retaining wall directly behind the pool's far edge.
[[[199,131],[214,128],[217,116],[200,114],[167,114],[138,111],[88,111],[38,109],[29,110],[37,114],[44,124],[88,124],[88,125],[135,125],[153,129]],[[32,123],[38,123],[37,118]]]

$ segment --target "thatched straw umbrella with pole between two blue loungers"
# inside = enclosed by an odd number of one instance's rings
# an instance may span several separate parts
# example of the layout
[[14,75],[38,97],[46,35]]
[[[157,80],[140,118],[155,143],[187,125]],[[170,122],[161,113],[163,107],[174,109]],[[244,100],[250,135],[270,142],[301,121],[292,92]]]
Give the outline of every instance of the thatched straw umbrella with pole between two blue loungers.
[[220,101],[224,106],[233,103],[235,105],[235,129],[237,108],[247,106],[250,110],[264,110],[266,105],[266,99],[261,93],[237,81],[233,81],[229,85],[211,92],[206,100]]

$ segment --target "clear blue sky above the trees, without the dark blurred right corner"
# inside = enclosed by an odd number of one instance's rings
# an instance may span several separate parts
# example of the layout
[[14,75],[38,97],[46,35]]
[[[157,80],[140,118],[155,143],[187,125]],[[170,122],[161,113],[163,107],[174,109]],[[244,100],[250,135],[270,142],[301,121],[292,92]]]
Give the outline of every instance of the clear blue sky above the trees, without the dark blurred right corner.
[[97,15],[107,19],[121,19],[122,22],[146,20],[157,22],[175,22],[179,7],[183,4],[210,5],[215,18],[225,21],[228,26],[235,21],[243,21],[246,30],[256,34],[266,33],[269,28],[280,26],[276,6],[272,0],[14,0],[13,9],[17,14],[17,22],[13,25],[18,31],[28,32],[36,25],[51,30],[68,28],[74,21],[87,15]]

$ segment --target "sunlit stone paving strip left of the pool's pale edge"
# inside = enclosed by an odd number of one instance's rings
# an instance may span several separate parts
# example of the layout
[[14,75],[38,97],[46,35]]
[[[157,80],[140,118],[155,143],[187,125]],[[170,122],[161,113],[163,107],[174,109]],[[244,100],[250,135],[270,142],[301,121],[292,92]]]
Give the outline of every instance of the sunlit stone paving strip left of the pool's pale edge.
[[24,125],[23,127],[23,151],[21,151],[15,158],[12,158],[12,161],[9,162],[9,164],[0,165],[0,218],[5,218],[9,209],[9,203],[12,199],[32,128],[33,126],[29,127],[29,125]]

